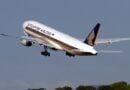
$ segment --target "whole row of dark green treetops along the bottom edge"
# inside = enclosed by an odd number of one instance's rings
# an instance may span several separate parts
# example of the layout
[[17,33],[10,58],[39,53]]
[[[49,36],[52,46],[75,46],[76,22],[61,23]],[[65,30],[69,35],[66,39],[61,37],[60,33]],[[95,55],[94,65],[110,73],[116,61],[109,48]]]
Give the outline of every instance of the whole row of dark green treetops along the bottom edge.
[[[47,89],[39,88],[39,89],[28,89],[28,90],[47,90]],[[80,85],[76,89],[73,89],[70,86],[64,86],[64,87],[57,87],[54,90],[130,90],[130,84],[121,81],[121,82],[115,82],[110,85],[101,85],[101,86]]]

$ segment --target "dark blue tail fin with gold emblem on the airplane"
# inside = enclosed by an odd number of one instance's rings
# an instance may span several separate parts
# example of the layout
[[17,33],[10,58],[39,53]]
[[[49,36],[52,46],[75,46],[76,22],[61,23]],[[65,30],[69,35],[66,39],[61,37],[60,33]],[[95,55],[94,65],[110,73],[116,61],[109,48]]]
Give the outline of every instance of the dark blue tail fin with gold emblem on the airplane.
[[86,43],[90,46],[94,46],[99,28],[100,28],[100,23],[97,23],[96,26],[89,33],[88,37],[84,40],[84,43]]

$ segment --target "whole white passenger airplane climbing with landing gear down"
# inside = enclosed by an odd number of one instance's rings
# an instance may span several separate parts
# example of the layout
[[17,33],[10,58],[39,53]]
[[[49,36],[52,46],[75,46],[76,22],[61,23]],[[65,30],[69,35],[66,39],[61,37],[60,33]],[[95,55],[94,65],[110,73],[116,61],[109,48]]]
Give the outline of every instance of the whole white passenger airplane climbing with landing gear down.
[[[23,23],[24,36],[21,37],[20,42],[22,45],[31,47],[37,43],[43,46],[44,51],[41,55],[50,56],[48,49],[54,51],[65,51],[67,56],[96,56],[98,51],[94,46],[97,44],[130,40],[130,38],[117,38],[117,39],[103,39],[97,40],[101,24],[97,23],[84,41],[80,41],[70,35],[62,33],[47,25],[41,24],[37,21],[28,20]],[[1,34],[2,36],[8,36]]]

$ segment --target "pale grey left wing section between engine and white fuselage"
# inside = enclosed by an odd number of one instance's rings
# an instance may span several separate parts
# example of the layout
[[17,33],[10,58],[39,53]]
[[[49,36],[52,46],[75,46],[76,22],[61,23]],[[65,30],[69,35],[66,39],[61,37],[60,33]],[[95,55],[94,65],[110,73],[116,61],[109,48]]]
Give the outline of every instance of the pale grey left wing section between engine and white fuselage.
[[38,38],[34,38],[34,37],[28,37],[28,36],[22,36],[21,39],[24,39],[24,40],[28,40],[28,41],[31,41],[33,43],[36,43],[36,44],[39,44],[39,45],[45,45],[45,46],[48,46],[50,48],[54,48],[54,46],[52,46],[51,44],[47,43],[47,42],[44,42],[43,40],[40,40]]

